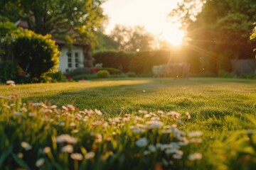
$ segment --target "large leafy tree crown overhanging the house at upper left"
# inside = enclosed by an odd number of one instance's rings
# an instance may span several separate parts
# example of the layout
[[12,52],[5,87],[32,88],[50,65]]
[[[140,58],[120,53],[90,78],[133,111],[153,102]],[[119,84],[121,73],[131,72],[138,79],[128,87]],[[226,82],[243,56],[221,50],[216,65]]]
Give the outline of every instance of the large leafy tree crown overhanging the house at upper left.
[[[50,33],[68,42],[93,40],[93,32],[105,16],[104,0],[2,0],[0,19],[26,21],[35,33]],[[73,31],[70,31],[73,29]],[[79,36],[78,36],[79,35]]]

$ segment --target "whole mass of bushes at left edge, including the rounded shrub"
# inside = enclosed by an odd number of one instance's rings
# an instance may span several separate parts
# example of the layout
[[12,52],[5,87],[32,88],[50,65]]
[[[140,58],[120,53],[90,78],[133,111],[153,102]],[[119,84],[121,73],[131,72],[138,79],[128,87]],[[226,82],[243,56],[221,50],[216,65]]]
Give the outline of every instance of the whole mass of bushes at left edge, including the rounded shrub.
[[0,23],[0,30],[0,81],[50,81],[48,74],[57,71],[60,55],[50,35],[21,30],[9,22]]

